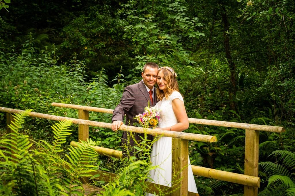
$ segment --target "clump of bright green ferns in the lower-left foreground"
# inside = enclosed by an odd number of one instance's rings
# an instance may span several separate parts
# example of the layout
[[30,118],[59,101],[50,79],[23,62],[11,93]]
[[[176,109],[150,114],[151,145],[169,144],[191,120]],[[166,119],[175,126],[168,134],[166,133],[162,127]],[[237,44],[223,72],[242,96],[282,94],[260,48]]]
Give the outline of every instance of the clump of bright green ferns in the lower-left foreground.
[[[70,134],[69,121],[53,125],[55,140],[53,144],[45,141],[30,140],[27,135],[19,133],[24,119],[30,111],[14,115],[9,127],[12,133],[0,138],[0,195],[83,195],[83,187],[79,177],[89,176],[93,171],[91,164],[96,160],[96,152],[89,144],[96,144],[91,140],[83,142],[78,149],[68,155],[79,157],[80,161],[64,160],[61,154],[65,137]],[[90,161],[91,160],[91,161]],[[70,165],[70,169],[68,169]],[[72,170],[71,170],[72,168]]]

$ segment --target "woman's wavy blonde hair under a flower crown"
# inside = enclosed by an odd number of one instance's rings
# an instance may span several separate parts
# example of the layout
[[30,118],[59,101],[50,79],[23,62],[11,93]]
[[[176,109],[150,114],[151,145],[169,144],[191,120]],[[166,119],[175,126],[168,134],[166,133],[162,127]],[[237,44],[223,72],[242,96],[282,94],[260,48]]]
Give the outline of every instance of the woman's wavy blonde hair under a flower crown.
[[[165,81],[167,81],[167,91],[166,94],[164,93],[163,90],[159,89],[158,83],[157,83],[157,97],[158,97],[158,101],[162,100],[164,97],[168,100],[169,96],[172,94],[173,91],[178,91],[179,92],[179,88],[178,88],[178,83],[176,80],[176,73],[174,71],[174,69],[172,69],[171,67],[165,66],[165,67],[160,67],[159,68],[159,72],[163,71],[164,74],[164,79]],[[158,72],[158,73],[159,73]]]

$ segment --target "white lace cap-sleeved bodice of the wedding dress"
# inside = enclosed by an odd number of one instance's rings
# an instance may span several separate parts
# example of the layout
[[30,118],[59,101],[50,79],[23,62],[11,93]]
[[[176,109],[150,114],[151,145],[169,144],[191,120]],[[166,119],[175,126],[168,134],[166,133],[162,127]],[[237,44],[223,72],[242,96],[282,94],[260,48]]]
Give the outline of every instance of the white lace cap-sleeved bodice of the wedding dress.
[[155,107],[160,109],[160,122],[158,125],[159,128],[171,127],[172,125],[178,123],[172,108],[172,101],[176,98],[183,101],[181,94],[178,91],[173,91],[168,100],[164,97],[156,104]]

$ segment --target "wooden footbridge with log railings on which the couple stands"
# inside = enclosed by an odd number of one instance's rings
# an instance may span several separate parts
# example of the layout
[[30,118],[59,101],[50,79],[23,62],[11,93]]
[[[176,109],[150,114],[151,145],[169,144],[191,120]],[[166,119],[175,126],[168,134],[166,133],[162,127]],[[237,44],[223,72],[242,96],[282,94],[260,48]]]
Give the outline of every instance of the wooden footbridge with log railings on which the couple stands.
[[[45,118],[50,120],[71,120],[74,124],[78,124],[78,141],[85,141],[89,138],[89,125],[102,128],[111,128],[111,123],[103,123],[89,120],[89,111],[102,112],[102,113],[113,113],[111,109],[105,108],[95,108],[82,105],[72,105],[72,104],[63,104],[63,103],[52,103],[53,106],[63,107],[63,108],[72,108],[78,109],[78,119],[77,118],[68,118],[61,117],[49,114],[35,113],[31,112],[30,116],[37,118]],[[7,124],[10,124],[13,120],[11,113],[19,113],[22,110],[16,110],[11,108],[0,107],[0,112],[7,113]],[[283,127],[277,126],[267,126],[267,125],[255,125],[247,123],[233,123],[225,122],[218,120],[205,120],[205,119],[196,119],[189,118],[189,123],[196,123],[202,125],[214,125],[222,127],[231,127],[231,128],[240,128],[245,129],[245,174],[238,174],[233,172],[225,172],[221,170],[215,170],[206,167],[199,167],[191,165],[193,174],[209,177],[217,180],[233,182],[237,184],[244,185],[244,195],[245,196],[257,196],[258,188],[260,187],[260,178],[258,177],[258,155],[259,155],[259,131],[269,131],[269,132],[278,132],[282,133],[285,131]],[[151,192],[158,193],[159,187],[161,192],[167,192],[167,195],[179,196],[179,195],[198,195],[192,192],[188,192],[188,172],[187,169],[184,170],[184,166],[188,165],[188,140],[201,141],[201,142],[216,142],[217,139],[215,136],[210,135],[200,135],[192,133],[182,133],[175,131],[166,131],[166,130],[155,130],[155,129],[143,129],[139,127],[132,127],[121,125],[119,130],[130,131],[135,133],[147,133],[151,135],[163,135],[166,137],[172,138],[172,165],[175,165],[176,168],[172,171],[172,176],[175,176],[177,179],[181,179],[180,186],[177,187],[178,190],[171,190],[171,187],[159,186],[151,182],[146,182],[149,186]],[[7,133],[10,133],[10,129],[7,127]],[[72,146],[76,146],[77,142],[72,141]],[[120,158],[122,157],[122,151],[113,150],[108,148],[102,148],[98,146],[93,146],[94,149],[101,155],[109,155],[112,157]],[[93,175],[100,174],[99,179],[110,181],[112,178],[116,177],[116,174],[97,171],[96,173],[91,173]],[[87,179],[84,179],[85,181]],[[172,187],[173,187],[173,181]],[[179,182],[178,182],[179,183]]]

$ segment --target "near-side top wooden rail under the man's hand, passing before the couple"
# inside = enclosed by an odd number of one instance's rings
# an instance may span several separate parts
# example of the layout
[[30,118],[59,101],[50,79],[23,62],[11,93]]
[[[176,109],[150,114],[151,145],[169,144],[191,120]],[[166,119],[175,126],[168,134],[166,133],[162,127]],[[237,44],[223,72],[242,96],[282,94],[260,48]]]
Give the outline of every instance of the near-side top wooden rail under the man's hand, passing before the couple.
[[[22,111],[23,110],[0,107],[0,112],[19,113]],[[82,120],[77,118],[68,118],[63,116],[55,116],[55,115],[36,113],[36,112],[30,112],[29,115],[32,117],[45,118],[49,120],[71,120],[74,124],[79,124],[79,125],[91,125],[94,127],[102,127],[102,128],[109,128],[109,129],[112,128],[111,123],[96,122],[92,120]],[[200,141],[200,142],[216,142],[217,141],[217,138],[211,135],[182,133],[177,131],[166,131],[166,130],[160,130],[160,129],[144,129],[141,127],[133,127],[133,126],[127,126],[127,125],[121,125],[119,130],[130,131],[134,133],[146,133],[150,135],[162,135],[165,137],[194,140],[194,141]]]

